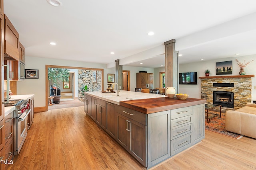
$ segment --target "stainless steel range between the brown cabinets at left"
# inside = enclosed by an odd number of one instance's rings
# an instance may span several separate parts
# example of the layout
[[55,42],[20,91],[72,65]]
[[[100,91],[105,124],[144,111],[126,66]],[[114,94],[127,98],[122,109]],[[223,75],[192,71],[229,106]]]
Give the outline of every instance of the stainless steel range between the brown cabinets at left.
[[28,100],[23,100],[14,107],[14,155],[17,155],[27,137],[28,129],[26,117],[31,109]]

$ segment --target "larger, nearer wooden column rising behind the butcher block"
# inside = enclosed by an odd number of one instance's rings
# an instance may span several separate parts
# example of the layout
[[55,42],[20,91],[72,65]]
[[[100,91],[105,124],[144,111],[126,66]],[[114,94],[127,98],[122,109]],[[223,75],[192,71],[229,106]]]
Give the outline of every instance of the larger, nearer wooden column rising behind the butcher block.
[[178,63],[178,51],[175,51],[175,39],[164,42],[164,45],[165,45],[165,87],[175,87],[176,93],[178,93],[179,92],[179,89],[178,89],[179,63]]

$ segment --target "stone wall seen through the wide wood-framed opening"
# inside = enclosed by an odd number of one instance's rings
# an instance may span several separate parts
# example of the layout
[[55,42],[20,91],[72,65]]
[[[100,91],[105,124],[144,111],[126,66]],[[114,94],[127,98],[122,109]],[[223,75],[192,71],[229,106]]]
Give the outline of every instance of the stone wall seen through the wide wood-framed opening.
[[84,102],[84,86],[87,85],[87,91],[102,90],[102,71],[96,70],[97,82],[92,82],[92,71],[94,70],[78,70],[78,99]]

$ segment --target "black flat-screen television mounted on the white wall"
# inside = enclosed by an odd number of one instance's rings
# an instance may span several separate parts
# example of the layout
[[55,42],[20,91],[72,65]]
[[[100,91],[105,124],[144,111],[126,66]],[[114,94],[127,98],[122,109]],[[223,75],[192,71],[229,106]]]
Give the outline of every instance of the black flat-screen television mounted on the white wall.
[[197,72],[179,73],[179,84],[197,84]]

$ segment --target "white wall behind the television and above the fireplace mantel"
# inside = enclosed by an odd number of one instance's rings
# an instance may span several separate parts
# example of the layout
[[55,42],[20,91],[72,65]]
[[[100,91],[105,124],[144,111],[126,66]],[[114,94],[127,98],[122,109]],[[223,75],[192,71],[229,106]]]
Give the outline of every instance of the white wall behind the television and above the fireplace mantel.
[[[205,76],[204,70],[209,69],[210,70],[210,76],[221,76],[216,75],[216,62],[222,62],[222,61],[233,61],[232,63],[232,75],[239,75],[238,72],[240,71],[240,68],[237,65],[236,59],[240,61],[241,63],[244,62],[244,60],[251,61],[256,59],[256,55],[249,55],[249,56],[242,56],[242,57],[230,57],[230,58],[224,58],[219,60],[212,60],[212,61],[198,61],[198,63],[188,63],[188,64],[180,64],[179,65],[179,72],[197,72],[198,77]],[[247,75],[256,73],[256,60],[252,63],[248,64],[245,67],[245,72]],[[231,76],[231,74],[226,74],[224,76]],[[186,93],[189,94],[189,97],[191,98],[201,98],[201,79],[198,78],[198,84],[193,85],[179,85],[179,92],[177,93]],[[256,78],[252,78],[252,100],[256,100],[256,90],[253,88],[256,86]]]

